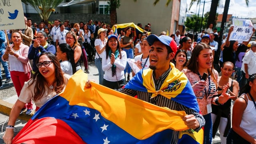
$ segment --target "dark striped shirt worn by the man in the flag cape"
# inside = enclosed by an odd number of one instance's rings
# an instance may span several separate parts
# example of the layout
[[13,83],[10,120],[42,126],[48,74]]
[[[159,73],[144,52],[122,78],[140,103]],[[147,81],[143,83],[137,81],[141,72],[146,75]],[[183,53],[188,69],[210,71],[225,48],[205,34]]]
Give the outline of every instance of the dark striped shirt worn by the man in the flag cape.
[[[162,84],[164,83],[164,80],[166,79],[166,77],[168,76],[170,71],[171,71],[171,68],[169,68],[166,72],[164,72],[164,74],[162,74],[162,76],[160,76],[158,78],[158,80],[155,78],[155,74],[153,72],[153,79],[154,79],[156,90],[159,90],[161,88]],[[138,90],[131,90],[131,89],[127,89],[127,88],[120,88],[118,91],[122,92],[124,94],[128,94],[130,96],[137,95],[138,99],[144,100],[146,102],[150,102],[150,103],[155,104],[160,107],[167,107],[167,108],[170,108],[171,110],[178,110],[178,111],[183,110],[186,112],[186,114],[193,114],[195,116],[195,118],[198,120],[198,123],[200,124],[200,126],[198,128],[196,128],[196,130],[195,130],[197,132],[205,124],[205,120],[201,114],[199,114],[195,110],[192,110],[191,108],[183,106],[182,104],[179,104],[179,103],[177,103],[171,99],[168,99],[160,94],[158,94],[156,97],[150,99],[150,97],[152,96],[153,93],[142,92],[142,91],[138,91]],[[177,144],[178,138],[179,138],[179,132],[173,131],[171,144]]]

